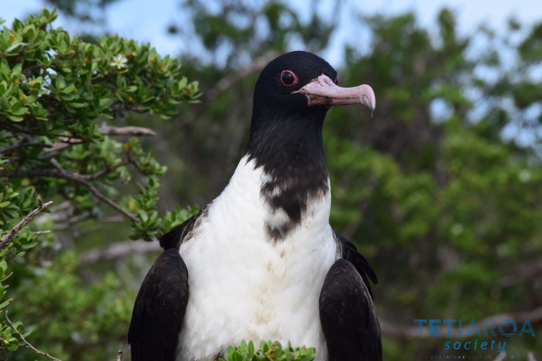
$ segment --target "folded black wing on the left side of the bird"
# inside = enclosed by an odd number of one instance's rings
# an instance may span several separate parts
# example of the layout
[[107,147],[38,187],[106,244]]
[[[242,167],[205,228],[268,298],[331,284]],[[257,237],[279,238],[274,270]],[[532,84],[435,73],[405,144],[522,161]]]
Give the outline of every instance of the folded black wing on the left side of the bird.
[[174,360],[188,291],[188,271],[179,252],[162,252],[135,298],[128,330],[132,361]]

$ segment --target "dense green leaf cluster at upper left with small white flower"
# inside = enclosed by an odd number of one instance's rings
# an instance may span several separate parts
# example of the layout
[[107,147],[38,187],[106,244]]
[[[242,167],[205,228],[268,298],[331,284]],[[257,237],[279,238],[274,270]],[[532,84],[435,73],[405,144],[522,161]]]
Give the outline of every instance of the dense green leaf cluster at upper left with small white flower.
[[2,30],[0,116],[13,122],[2,122],[7,129],[24,129],[14,124],[23,120],[51,120],[36,122],[34,133],[52,132],[54,123],[56,130],[92,139],[89,123],[97,117],[133,110],[167,118],[181,101],[197,98],[197,82],[180,75],[176,59],[118,36],[91,44],[62,29],[47,31],[56,16],[44,9]]

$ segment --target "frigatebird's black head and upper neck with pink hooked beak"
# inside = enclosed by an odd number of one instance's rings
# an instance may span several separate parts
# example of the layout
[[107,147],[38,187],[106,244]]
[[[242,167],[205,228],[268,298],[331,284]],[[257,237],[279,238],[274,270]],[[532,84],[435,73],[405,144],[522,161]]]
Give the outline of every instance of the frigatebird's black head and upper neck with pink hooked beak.
[[[321,57],[292,51],[270,62],[254,89],[250,139],[245,154],[266,170],[312,169],[327,180],[322,125],[334,105],[365,104],[375,109],[370,86],[341,88],[337,71]],[[286,176],[285,175],[285,176]],[[327,183],[326,183],[327,184]]]

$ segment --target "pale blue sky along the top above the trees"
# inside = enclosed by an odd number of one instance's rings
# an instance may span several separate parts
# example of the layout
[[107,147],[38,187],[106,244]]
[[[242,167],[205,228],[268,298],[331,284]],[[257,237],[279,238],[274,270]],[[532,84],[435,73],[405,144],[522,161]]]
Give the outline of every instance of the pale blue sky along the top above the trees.
[[[336,0],[324,0],[321,6],[331,9],[334,1]],[[119,0],[108,8],[107,28],[123,37],[150,42],[160,54],[177,55],[187,44],[183,44],[179,37],[168,36],[165,29],[168,24],[183,18],[183,11],[179,7],[180,1],[154,0],[152,6],[149,6],[150,3],[149,0]],[[308,17],[304,5],[309,1],[293,3],[298,6],[301,17]],[[21,18],[29,12],[41,9],[43,4],[42,0],[0,0],[0,17],[7,20],[9,26],[14,18]],[[334,35],[336,48],[339,49],[344,41],[359,42],[359,37],[368,37],[367,34],[353,34],[352,28],[349,27],[352,23],[352,14],[363,12],[364,15],[391,15],[414,11],[422,25],[431,27],[435,24],[438,10],[443,6],[455,11],[462,34],[469,34],[482,22],[492,29],[502,29],[500,31],[505,32],[507,19],[511,16],[522,24],[542,21],[542,5],[532,0],[346,0],[340,14],[343,26]],[[56,27],[60,26],[70,33],[80,29],[78,24],[69,22],[63,17],[56,22]],[[340,62],[340,54],[334,50],[331,48],[323,54],[332,64]]]

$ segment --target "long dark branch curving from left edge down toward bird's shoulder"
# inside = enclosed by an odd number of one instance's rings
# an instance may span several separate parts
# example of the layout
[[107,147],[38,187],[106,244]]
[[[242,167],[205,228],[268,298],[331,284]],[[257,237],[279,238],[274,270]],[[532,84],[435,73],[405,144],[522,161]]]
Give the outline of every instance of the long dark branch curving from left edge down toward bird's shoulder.
[[107,203],[109,206],[111,206],[113,209],[115,209],[119,213],[124,214],[127,218],[130,218],[134,222],[139,222],[139,218],[137,215],[126,211],[126,209],[116,204],[111,198],[108,198],[105,194],[98,191],[98,189],[94,187],[91,182],[88,182],[87,180],[81,178],[81,176],[78,174],[68,173],[66,172],[66,170],[63,170],[63,169],[59,170],[58,172],[55,172],[54,170],[40,169],[40,168],[30,170],[29,172],[22,172],[22,173],[8,173],[7,172],[7,173],[0,173],[0,174],[7,178],[25,178],[25,177],[34,177],[34,176],[53,177],[53,178],[66,179],[74,183],[78,183],[86,187],[92,194],[96,196],[96,198],[101,199],[102,201]]

